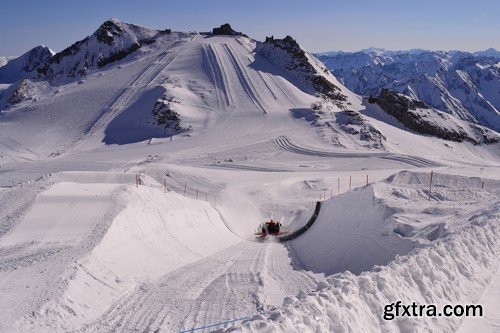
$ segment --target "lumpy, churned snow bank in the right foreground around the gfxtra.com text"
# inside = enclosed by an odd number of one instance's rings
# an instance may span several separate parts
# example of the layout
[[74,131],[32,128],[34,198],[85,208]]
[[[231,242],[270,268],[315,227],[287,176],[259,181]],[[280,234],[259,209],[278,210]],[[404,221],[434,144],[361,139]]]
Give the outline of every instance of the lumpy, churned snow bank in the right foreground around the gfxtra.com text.
[[[335,243],[338,239],[325,236],[326,240]],[[376,266],[358,276],[351,272],[332,275],[318,285],[318,291],[299,294],[282,307],[228,331],[410,332],[415,327],[422,331],[455,331],[461,318],[384,320],[384,305],[416,302],[436,304],[439,309],[445,304],[475,302],[494,275],[499,253],[500,202],[496,201],[483,208],[481,214],[470,216],[466,227],[429,246],[398,255],[387,266]]]

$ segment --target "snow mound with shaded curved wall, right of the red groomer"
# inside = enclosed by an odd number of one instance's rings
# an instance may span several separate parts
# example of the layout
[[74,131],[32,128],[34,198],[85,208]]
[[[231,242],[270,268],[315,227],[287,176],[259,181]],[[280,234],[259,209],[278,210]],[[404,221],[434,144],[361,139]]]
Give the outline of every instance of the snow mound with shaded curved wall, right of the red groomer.
[[431,192],[429,180],[430,173],[402,171],[327,200],[289,248],[307,270],[359,274],[452,234],[498,200],[477,177],[434,174]]

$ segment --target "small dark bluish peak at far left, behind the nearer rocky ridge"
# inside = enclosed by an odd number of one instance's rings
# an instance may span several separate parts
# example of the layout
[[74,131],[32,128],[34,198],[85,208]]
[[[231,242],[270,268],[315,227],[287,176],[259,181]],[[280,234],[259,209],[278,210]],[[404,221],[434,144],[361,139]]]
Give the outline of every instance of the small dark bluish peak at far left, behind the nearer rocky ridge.
[[28,77],[38,66],[44,64],[54,52],[46,46],[37,46],[17,58],[0,59],[0,83],[13,83]]

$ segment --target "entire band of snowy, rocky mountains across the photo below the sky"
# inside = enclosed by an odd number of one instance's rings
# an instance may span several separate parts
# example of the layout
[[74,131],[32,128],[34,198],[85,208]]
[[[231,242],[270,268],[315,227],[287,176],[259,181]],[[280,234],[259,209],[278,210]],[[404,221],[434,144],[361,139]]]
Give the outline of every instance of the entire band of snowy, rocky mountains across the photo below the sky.
[[[110,19],[58,53],[37,46],[0,58],[0,144],[59,156],[84,139],[126,144],[217,131],[234,111],[240,132],[251,117],[274,133],[288,115],[350,150],[398,150],[408,132],[493,145],[495,52],[370,48],[320,54],[321,62],[290,36],[261,42],[229,24],[194,33]],[[26,135],[35,128],[50,135]]]

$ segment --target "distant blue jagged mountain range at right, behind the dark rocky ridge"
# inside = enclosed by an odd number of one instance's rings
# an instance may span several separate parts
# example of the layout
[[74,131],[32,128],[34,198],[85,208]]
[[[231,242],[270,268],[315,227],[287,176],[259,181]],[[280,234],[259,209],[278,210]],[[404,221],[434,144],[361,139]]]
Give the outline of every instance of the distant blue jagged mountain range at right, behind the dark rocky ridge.
[[500,130],[500,65],[490,56],[494,52],[417,51],[365,50],[319,59],[355,93],[376,96],[388,88]]

